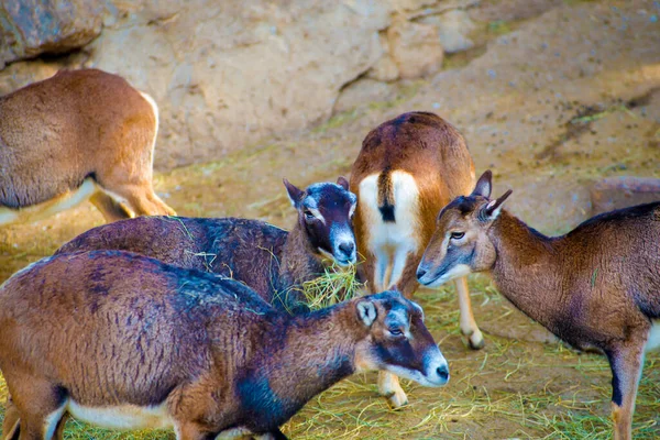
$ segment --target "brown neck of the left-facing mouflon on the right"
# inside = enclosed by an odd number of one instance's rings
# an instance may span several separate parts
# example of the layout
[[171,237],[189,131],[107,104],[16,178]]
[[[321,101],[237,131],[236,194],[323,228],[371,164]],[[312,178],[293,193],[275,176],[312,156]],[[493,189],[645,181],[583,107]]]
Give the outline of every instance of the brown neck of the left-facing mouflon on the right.
[[497,255],[491,274],[502,295],[553,331],[562,307],[558,239],[537,232],[506,211],[494,221],[488,237]]

